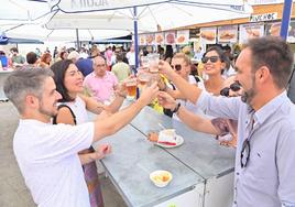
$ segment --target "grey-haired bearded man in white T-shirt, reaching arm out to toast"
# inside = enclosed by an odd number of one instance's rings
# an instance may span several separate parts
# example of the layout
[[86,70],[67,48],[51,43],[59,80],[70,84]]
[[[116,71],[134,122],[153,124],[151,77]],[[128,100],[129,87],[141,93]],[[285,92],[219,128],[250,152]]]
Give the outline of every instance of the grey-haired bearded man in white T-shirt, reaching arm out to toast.
[[[36,205],[90,207],[78,152],[128,124],[155,98],[157,87],[148,87],[134,103],[117,113],[78,126],[51,124],[62,96],[50,69],[13,72],[4,83],[4,92],[21,117],[13,151]],[[105,156],[109,152],[105,148],[97,153]]]

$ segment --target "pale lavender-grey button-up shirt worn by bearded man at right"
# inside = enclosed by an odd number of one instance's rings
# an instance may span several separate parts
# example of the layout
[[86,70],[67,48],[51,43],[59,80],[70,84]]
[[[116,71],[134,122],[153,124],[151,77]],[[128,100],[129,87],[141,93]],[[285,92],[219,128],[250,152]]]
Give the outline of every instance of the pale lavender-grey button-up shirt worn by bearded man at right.
[[[286,92],[258,111],[250,110],[240,97],[214,97],[208,92],[201,92],[197,106],[214,116],[238,120],[233,206],[295,206],[295,106]],[[241,167],[245,139],[250,157]]]

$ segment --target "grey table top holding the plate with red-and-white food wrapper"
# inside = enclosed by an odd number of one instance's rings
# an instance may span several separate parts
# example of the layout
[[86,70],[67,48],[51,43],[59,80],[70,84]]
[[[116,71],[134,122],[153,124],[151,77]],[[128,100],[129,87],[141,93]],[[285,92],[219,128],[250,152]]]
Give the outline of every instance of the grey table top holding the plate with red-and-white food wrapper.
[[167,129],[175,129],[184,138],[183,145],[165,150],[205,179],[233,171],[236,150],[220,145],[214,135],[196,132],[150,107],[145,107],[131,122],[144,134],[151,130],[162,130],[159,123]]

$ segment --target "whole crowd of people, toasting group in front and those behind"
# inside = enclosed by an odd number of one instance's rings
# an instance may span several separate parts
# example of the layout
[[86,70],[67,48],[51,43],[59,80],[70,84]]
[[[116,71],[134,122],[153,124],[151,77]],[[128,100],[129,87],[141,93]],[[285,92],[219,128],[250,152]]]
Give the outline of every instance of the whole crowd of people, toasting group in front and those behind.
[[[92,47],[89,58],[61,52],[54,64],[43,59],[46,67],[34,65],[31,53],[32,65],[9,76],[4,92],[21,117],[14,154],[34,201],[103,206],[95,161],[111,146],[95,150],[91,143],[116,133],[157,99],[172,119],[236,148],[233,206],[295,206],[295,107],[286,95],[291,47],[278,37],[253,39],[233,64],[226,50],[212,46],[201,55],[203,74],[192,73],[184,52],[172,46],[159,52],[153,74],[134,67],[131,46],[125,55]],[[120,110],[127,80],[141,74],[150,74],[149,84]],[[87,110],[98,118],[89,122]]]

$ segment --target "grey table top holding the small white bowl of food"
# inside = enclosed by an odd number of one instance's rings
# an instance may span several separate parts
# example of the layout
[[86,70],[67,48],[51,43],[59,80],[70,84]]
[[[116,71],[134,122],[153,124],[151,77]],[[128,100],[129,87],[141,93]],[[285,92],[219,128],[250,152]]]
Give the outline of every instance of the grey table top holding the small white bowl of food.
[[[188,192],[197,184],[204,185],[201,176],[148,141],[130,124],[94,145],[99,143],[112,145],[112,153],[101,162],[129,206],[153,206]],[[167,186],[159,188],[150,181],[150,173],[156,170],[173,174]]]

